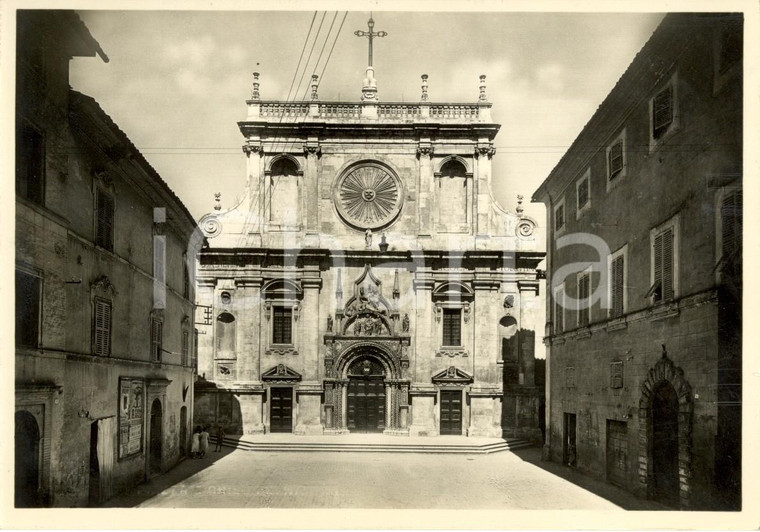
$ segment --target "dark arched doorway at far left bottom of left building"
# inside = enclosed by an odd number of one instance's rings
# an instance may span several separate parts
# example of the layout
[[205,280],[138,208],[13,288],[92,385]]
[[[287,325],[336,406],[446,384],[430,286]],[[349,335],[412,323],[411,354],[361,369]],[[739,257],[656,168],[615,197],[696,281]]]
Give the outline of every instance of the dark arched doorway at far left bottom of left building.
[[41,506],[40,428],[26,410],[16,412],[16,508]]

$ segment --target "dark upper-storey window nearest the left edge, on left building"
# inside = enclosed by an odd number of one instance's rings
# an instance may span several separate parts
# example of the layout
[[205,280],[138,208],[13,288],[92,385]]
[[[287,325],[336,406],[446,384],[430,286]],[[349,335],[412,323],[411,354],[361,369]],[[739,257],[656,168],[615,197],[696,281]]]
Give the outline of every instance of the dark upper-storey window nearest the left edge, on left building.
[[16,121],[16,194],[43,204],[45,187],[45,139],[21,118]]

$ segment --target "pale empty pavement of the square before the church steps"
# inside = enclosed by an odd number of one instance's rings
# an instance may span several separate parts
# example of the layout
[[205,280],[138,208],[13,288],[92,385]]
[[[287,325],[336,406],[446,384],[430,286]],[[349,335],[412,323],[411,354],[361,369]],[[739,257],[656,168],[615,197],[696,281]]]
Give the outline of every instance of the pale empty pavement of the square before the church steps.
[[[109,507],[661,509],[580,476],[547,471],[540,449],[489,455],[250,452],[185,460]],[[562,474],[562,466],[557,472]],[[572,472],[577,473],[577,472]],[[615,502],[612,502],[612,501]]]

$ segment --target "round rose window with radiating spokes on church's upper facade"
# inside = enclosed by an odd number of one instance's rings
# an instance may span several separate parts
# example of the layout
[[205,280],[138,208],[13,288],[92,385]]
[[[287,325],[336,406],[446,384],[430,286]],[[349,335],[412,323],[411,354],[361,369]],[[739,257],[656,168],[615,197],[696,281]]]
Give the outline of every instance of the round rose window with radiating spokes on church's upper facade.
[[380,229],[401,210],[401,183],[378,164],[366,163],[350,170],[338,181],[336,193],[340,215],[360,229]]

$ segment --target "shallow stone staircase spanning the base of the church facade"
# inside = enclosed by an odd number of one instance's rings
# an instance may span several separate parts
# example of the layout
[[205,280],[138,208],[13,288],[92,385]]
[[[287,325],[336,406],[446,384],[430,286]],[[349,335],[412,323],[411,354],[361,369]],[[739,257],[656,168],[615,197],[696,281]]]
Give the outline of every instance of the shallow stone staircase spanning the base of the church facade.
[[[211,443],[216,444],[215,437]],[[513,451],[533,444],[517,438],[466,438],[463,436],[398,437],[368,434],[342,436],[235,436],[224,438],[224,447],[243,451],[490,454]]]

